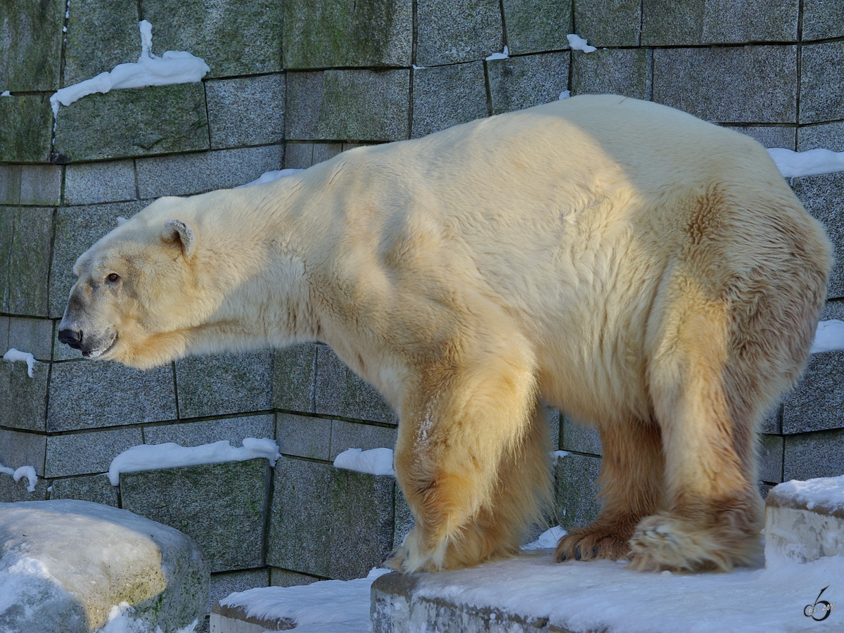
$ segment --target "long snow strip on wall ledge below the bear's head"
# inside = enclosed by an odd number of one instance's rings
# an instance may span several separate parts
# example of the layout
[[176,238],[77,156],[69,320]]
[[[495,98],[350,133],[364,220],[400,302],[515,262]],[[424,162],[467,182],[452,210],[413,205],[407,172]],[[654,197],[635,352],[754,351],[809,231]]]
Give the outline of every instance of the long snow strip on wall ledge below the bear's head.
[[195,466],[201,463],[243,462],[256,457],[266,457],[271,466],[281,457],[279,445],[274,440],[257,440],[247,437],[243,446],[231,446],[229,441],[215,441],[202,446],[179,446],[173,442],[165,444],[143,444],[123,451],[111,460],[108,479],[111,485],[120,483],[120,473],[137,473],[142,470]]

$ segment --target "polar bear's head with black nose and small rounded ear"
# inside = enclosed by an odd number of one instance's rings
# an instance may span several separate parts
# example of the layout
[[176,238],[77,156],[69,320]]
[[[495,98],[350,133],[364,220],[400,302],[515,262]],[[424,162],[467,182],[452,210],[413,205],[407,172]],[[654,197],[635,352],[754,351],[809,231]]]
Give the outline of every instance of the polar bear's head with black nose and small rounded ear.
[[78,277],[58,338],[85,358],[148,368],[183,353],[197,233],[161,198],[105,235],[73,266]]

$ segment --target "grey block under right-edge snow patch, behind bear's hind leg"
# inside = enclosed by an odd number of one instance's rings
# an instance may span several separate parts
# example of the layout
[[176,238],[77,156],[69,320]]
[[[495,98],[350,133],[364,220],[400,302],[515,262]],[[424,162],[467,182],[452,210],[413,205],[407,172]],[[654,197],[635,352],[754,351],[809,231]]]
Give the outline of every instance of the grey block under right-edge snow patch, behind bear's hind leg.
[[812,354],[806,373],[782,405],[785,434],[844,428],[844,352]]

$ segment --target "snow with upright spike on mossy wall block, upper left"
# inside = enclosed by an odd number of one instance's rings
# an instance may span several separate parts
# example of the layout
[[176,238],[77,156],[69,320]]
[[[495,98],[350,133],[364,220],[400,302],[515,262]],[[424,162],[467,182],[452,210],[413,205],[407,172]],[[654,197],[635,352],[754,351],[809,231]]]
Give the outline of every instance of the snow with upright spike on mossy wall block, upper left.
[[152,53],[152,24],[141,20],[141,56],[138,62],[118,64],[111,72],[59,89],[50,97],[53,116],[58,108],[95,92],[106,93],[113,88],[143,88],[168,84],[187,84],[200,81],[210,68],[199,57],[187,51],[166,51],[161,57]]

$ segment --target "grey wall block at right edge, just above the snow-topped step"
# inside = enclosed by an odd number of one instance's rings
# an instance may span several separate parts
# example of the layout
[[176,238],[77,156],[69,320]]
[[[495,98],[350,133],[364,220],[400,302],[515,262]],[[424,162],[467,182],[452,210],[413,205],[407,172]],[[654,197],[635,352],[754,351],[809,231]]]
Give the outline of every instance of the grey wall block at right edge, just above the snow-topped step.
[[782,480],[838,477],[844,473],[844,430],[786,436]]

